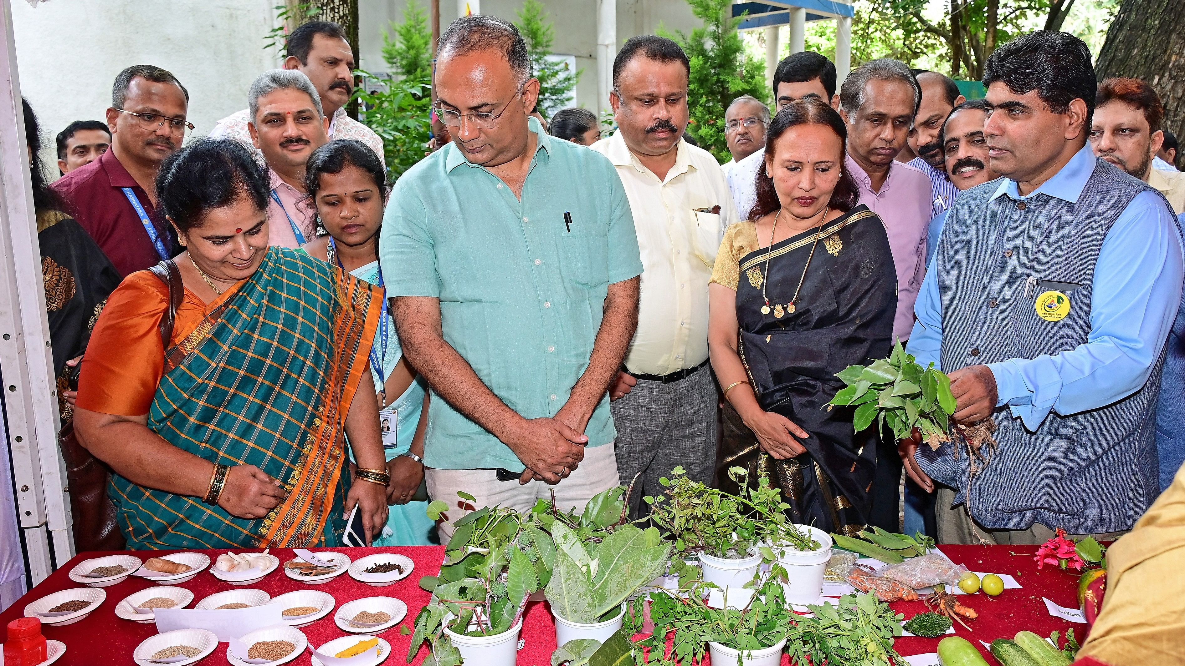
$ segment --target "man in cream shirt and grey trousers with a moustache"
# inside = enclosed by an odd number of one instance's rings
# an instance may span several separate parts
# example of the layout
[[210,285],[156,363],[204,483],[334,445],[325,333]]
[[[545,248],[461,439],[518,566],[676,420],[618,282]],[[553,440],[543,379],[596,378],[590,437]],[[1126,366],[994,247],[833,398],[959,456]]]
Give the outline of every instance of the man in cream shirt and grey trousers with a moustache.
[[616,167],[642,254],[638,332],[610,384],[622,484],[629,497],[662,492],[660,477],[683,466],[711,483],[718,399],[707,364],[707,279],[724,227],[737,221],[724,172],[681,141],[687,128],[687,56],[670,39],[635,37],[613,64],[609,102],[619,129],[592,144]]

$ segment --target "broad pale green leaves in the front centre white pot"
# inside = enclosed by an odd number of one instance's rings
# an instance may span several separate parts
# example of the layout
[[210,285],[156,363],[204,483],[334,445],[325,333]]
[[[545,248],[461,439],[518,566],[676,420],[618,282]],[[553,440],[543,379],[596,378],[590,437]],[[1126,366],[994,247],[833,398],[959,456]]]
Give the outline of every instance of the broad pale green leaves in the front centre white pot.
[[569,622],[613,617],[623,601],[666,570],[671,544],[655,528],[624,525],[600,543],[581,542],[564,523],[552,525],[556,561],[546,595]]

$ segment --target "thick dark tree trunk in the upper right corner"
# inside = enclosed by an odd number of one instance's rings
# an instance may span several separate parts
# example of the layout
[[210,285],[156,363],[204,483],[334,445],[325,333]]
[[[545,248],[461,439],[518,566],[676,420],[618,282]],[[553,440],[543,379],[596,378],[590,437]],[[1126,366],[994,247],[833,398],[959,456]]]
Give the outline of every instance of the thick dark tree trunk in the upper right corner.
[[1164,129],[1185,136],[1185,21],[1180,0],[1123,0],[1098,52],[1098,80],[1141,78],[1165,105]]

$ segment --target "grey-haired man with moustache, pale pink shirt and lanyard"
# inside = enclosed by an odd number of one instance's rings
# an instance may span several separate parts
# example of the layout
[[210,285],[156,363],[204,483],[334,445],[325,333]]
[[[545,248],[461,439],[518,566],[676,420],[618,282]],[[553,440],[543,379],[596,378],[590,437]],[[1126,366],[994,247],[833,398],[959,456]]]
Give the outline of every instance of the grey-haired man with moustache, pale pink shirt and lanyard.
[[300,247],[316,235],[316,214],[305,194],[308,156],[328,143],[329,121],[307,76],[296,70],[260,75],[248,92],[251,142],[268,164],[268,243]]

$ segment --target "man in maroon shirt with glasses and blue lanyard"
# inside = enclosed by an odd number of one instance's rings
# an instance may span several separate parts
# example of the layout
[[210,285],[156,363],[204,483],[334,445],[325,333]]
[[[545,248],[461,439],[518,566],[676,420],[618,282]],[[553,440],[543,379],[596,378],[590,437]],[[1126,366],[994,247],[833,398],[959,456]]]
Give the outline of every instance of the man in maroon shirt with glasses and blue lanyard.
[[185,86],[160,67],[123,70],[107,110],[111,148],[53,183],[121,276],[177,253],[172,229],[155,215],[155,181],[160,163],[193,130],[188,102]]

